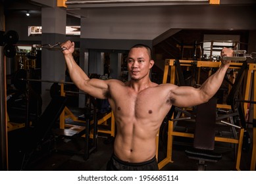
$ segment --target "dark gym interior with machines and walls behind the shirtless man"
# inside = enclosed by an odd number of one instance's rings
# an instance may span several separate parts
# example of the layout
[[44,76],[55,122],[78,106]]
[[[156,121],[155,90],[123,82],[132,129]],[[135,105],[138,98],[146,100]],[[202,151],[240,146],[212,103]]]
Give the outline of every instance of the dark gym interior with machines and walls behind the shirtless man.
[[193,87],[232,48],[208,103],[172,106],[156,156],[161,171],[255,171],[255,1],[83,2],[0,1],[0,170],[106,170],[115,117],[70,80],[59,43],[72,40],[90,78],[128,81],[128,51],[143,43],[155,60],[151,81]]

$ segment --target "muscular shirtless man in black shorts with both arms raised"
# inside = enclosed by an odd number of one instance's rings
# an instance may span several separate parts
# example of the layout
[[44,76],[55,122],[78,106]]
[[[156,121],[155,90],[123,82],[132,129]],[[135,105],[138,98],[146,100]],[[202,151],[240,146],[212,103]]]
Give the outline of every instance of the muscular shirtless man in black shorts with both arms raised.
[[[155,137],[172,105],[195,106],[205,103],[218,91],[230,61],[222,60],[217,72],[201,87],[178,87],[153,83],[149,71],[154,61],[151,49],[135,45],[128,54],[130,81],[90,79],[76,64],[74,42],[61,45],[70,78],[82,91],[98,99],[108,99],[116,120],[114,152],[107,170],[158,170]],[[232,49],[221,55],[232,56]]]

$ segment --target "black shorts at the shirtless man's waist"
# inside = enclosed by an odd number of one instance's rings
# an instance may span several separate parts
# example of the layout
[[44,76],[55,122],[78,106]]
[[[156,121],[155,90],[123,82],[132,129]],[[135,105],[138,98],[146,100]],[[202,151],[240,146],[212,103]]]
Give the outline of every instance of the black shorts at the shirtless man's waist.
[[107,171],[158,171],[157,158],[155,156],[146,162],[124,162],[113,154],[107,163]]

